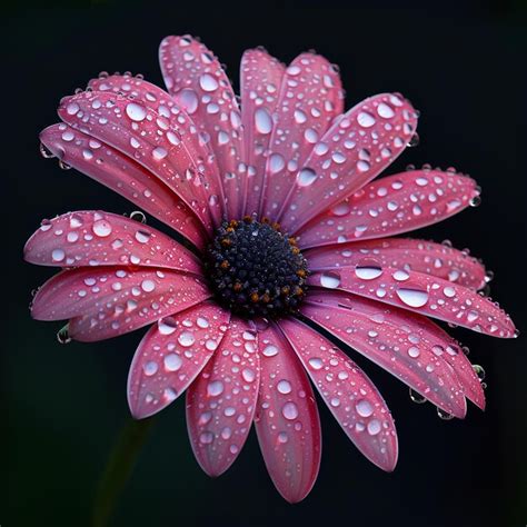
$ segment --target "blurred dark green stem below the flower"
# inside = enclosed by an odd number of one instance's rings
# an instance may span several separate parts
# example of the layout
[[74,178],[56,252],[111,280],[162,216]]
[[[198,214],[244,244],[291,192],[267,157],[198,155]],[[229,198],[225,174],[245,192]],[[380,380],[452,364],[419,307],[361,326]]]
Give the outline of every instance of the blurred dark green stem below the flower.
[[129,419],[122,427],[100,478],[92,510],[92,527],[106,527],[129,480],[155,419]]

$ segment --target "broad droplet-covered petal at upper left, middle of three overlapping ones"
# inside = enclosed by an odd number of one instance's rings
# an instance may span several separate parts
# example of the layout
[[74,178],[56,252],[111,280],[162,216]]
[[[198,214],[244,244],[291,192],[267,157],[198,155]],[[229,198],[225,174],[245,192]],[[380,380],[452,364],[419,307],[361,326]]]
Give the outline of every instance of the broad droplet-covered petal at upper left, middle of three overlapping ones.
[[142,165],[212,228],[209,209],[220,203],[207,196],[205,185],[215,179],[217,167],[200,145],[195,125],[177,106],[156,111],[116,93],[87,91],[64,97],[58,113],[72,128]]

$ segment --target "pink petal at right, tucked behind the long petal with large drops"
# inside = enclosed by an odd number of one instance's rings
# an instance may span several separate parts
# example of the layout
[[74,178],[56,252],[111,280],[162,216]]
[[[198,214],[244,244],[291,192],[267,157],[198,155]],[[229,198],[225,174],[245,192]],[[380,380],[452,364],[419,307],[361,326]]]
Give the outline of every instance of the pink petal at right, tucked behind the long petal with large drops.
[[382,267],[411,269],[471,289],[481,289],[487,282],[483,264],[448,243],[410,238],[381,238],[308,249],[304,255],[311,271],[355,267],[365,257],[371,256]]

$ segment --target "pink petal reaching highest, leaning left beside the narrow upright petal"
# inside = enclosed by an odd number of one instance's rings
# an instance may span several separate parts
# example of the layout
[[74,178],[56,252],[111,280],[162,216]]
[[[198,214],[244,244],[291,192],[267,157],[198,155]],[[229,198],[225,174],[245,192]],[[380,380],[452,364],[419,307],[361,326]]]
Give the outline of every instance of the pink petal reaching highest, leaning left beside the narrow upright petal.
[[223,181],[229,218],[240,218],[247,167],[240,167],[241,117],[226,72],[207,47],[188,36],[165,38],[159,61],[168,91],[210,141]]

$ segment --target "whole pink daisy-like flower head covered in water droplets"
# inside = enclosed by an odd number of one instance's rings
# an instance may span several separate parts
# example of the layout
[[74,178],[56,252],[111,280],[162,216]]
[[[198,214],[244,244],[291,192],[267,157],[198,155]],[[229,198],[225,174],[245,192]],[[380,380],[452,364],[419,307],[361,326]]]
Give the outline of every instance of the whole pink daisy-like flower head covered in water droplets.
[[410,102],[381,93],[344,113],[338,72],[314,53],[286,68],[246,51],[240,105],[202,43],[168,37],[160,61],[168,92],[101,74],[61,100],[62,122],[40,138],[44,155],[177,240],[102,211],[43,221],[26,259],[63,270],[39,289],[32,316],[69,319],[81,341],[150,325],[130,368],[132,415],[187,390],[192,448],[211,476],[235,461],[255,422],[289,501],[309,493],[320,461],[309,378],[368,459],[384,470],[397,463],[386,402],[336,341],[444,415],[465,417],[466,399],[483,409],[477,372],[428,317],[503,338],[516,335],[513,321],[478,294],[478,260],[394,238],[477,205],[479,189],[430,167],[372,181],[416,138]]

